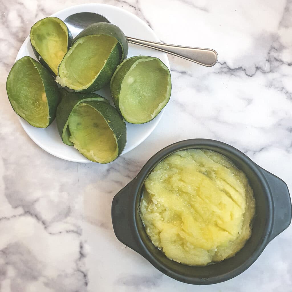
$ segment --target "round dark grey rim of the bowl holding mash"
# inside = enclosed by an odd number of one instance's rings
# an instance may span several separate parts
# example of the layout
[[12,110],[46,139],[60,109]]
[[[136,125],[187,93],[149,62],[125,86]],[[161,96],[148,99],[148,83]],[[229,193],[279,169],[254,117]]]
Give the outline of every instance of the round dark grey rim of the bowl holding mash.
[[[230,272],[227,272],[225,274],[221,274],[218,276],[211,276],[208,278],[198,278],[198,277],[189,277],[183,274],[179,274],[171,268],[166,267],[163,263],[161,263],[156,257],[154,257],[151,253],[151,251],[147,248],[145,245],[144,241],[142,240],[142,237],[140,235],[140,232],[145,232],[141,231],[138,228],[138,220],[140,219],[140,215],[138,215],[138,210],[137,210],[137,204],[140,202],[140,196],[139,194],[141,193],[143,184],[145,179],[147,178],[148,174],[152,171],[152,169],[164,158],[172,154],[173,152],[177,152],[180,150],[186,150],[186,149],[192,149],[192,148],[197,148],[197,149],[208,149],[208,147],[215,147],[220,150],[224,150],[226,152],[229,152],[235,156],[237,156],[239,159],[241,159],[248,167],[251,168],[251,170],[257,175],[258,180],[260,180],[260,183],[263,186],[263,190],[267,196],[267,207],[268,207],[268,218],[267,218],[267,225],[265,226],[264,234],[265,237],[262,240],[262,242],[256,247],[255,251],[249,256],[244,263],[236,267],[235,269],[231,270]],[[216,151],[216,150],[213,150]],[[220,153],[218,151],[218,153]],[[224,155],[224,154],[223,154]],[[267,182],[267,179],[262,173],[262,168],[258,166],[255,162],[253,162],[249,157],[247,157],[243,152],[240,150],[234,148],[231,145],[228,145],[224,142],[220,142],[217,140],[211,140],[211,139],[188,139],[188,140],[182,140],[179,142],[175,142],[156,154],[154,154],[142,167],[141,171],[138,173],[138,175],[134,179],[134,185],[131,186],[131,189],[133,190],[133,205],[132,205],[132,214],[133,214],[133,228],[134,232],[136,235],[136,240],[137,244],[139,245],[140,249],[140,254],[144,256],[154,267],[156,267],[159,271],[163,272],[164,274],[185,282],[189,284],[199,284],[199,285],[204,285],[204,284],[216,284],[220,283],[223,281],[227,281],[229,279],[232,279],[242,272],[244,272],[248,267],[250,267],[260,256],[260,254],[263,252],[267,244],[270,242],[269,240],[269,235],[272,230],[272,226],[274,224],[274,204],[273,204],[273,198],[272,198],[272,193],[270,190],[270,186]],[[182,264],[184,265],[184,264]],[[170,270],[170,272],[166,273],[166,268],[167,270]]]

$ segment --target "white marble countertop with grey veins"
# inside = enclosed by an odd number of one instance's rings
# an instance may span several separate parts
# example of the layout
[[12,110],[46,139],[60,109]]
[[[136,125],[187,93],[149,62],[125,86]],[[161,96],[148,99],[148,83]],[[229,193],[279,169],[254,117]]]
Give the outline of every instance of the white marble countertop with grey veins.
[[[169,56],[173,91],[160,123],[107,165],[44,152],[5,91],[34,22],[86,2],[138,15],[164,42],[219,54],[212,68]],[[187,138],[227,142],[292,190],[291,0],[0,0],[0,14],[0,292],[292,291],[292,226],[238,277],[192,286],[121,244],[111,223],[114,195],[154,153]]]

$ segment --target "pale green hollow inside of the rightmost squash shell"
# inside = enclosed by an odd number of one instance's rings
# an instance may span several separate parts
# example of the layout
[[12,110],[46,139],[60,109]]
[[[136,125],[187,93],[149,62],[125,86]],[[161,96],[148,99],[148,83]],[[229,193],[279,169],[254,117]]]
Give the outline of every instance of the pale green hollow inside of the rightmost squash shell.
[[169,84],[168,69],[159,60],[135,62],[121,84],[119,108],[123,117],[134,124],[152,120],[169,100]]

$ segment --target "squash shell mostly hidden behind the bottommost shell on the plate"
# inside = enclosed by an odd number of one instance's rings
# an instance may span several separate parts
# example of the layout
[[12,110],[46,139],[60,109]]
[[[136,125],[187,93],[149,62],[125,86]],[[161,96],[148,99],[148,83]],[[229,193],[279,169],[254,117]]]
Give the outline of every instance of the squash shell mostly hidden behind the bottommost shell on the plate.
[[67,92],[65,89],[61,89],[62,100],[57,108],[57,127],[62,141],[73,146],[73,143],[69,140],[70,131],[68,127],[69,116],[77,105],[81,102],[96,100],[109,103],[109,101],[95,93],[79,93],[79,92]]

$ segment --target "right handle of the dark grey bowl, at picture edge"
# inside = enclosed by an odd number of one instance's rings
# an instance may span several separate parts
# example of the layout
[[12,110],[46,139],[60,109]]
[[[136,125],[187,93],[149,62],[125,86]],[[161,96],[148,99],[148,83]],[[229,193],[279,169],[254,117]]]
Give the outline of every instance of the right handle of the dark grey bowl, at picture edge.
[[274,224],[270,233],[270,241],[283,232],[291,223],[291,198],[286,183],[276,175],[263,170],[272,192],[274,201]]

